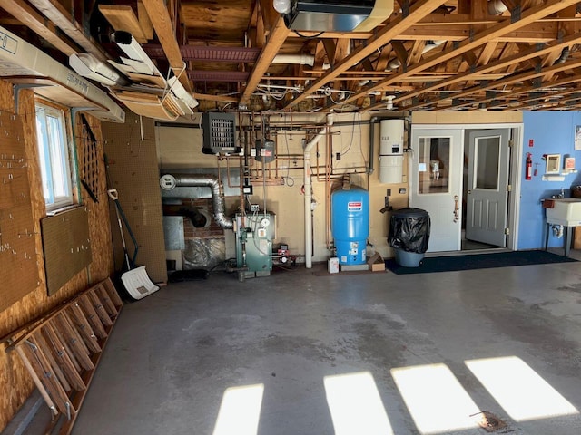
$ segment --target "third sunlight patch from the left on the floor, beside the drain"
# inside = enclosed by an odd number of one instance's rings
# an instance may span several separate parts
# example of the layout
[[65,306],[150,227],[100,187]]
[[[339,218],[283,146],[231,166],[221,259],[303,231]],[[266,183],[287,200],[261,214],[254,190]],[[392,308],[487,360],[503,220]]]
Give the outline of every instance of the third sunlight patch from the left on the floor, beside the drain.
[[447,365],[391,369],[391,376],[422,435],[479,427],[481,410]]

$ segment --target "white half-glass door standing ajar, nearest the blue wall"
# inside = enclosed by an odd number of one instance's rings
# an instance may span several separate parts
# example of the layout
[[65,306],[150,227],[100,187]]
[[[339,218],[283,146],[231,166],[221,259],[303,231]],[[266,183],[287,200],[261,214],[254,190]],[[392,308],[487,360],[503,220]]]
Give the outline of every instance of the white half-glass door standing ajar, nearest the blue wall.
[[466,238],[507,246],[508,130],[470,133]]

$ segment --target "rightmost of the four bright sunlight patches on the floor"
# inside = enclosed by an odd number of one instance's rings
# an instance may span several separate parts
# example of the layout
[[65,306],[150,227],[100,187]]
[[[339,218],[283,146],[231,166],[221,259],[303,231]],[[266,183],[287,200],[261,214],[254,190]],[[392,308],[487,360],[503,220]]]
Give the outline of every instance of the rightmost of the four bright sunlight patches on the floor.
[[517,356],[465,363],[514,420],[538,420],[579,413],[575,406]]

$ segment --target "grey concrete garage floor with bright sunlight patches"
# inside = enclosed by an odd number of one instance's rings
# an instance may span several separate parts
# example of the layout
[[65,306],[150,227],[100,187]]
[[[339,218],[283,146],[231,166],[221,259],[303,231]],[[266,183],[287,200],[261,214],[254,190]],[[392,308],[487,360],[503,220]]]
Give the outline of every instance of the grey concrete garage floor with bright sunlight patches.
[[484,410],[496,433],[581,433],[579,263],[313,272],[219,272],[125,306],[74,435],[484,434]]

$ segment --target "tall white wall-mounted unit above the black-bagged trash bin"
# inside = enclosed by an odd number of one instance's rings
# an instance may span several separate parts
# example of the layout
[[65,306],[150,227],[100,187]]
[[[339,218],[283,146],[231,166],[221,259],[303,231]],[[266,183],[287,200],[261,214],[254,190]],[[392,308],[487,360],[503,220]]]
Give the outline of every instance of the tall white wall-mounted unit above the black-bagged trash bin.
[[403,183],[404,120],[382,120],[379,125],[379,182]]

